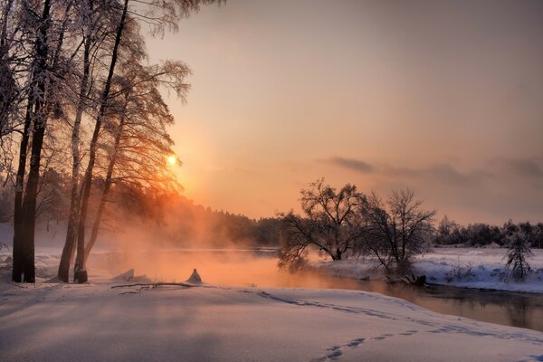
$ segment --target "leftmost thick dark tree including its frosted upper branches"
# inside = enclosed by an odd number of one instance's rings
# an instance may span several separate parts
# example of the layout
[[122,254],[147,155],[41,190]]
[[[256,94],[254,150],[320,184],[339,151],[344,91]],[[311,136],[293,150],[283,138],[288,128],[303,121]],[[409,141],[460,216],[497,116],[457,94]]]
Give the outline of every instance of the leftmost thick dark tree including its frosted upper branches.
[[63,118],[63,95],[71,81],[71,59],[63,52],[65,34],[71,24],[71,4],[71,0],[18,1],[10,13],[16,17],[14,23],[20,33],[14,43],[27,45],[21,51],[26,52],[25,57],[21,56],[24,61],[17,63],[27,80],[22,88],[25,115],[14,197],[12,279],[17,282],[35,279],[34,227],[43,141],[48,123]]

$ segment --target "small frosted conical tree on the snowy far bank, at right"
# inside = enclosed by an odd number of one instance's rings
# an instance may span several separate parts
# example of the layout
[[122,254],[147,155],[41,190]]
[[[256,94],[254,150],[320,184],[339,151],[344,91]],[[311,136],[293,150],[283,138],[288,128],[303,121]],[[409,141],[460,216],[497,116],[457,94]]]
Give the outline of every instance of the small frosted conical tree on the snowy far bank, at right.
[[527,259],[533,256],[529,247],[528,234],[522,230],[511,233],[507,243],[507,262],[510,276],[515,281],[523,281],[531,270]]

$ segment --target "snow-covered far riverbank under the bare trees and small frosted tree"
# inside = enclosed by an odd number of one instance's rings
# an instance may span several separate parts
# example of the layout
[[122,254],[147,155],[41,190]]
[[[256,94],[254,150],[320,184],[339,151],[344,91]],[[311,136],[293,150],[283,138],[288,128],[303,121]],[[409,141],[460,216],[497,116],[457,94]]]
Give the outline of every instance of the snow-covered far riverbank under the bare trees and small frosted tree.
[[[525,281],[504,278],[505,249],[435,248],[414,261],[415,274],[424,274],[433,284],[498,291],[543,293],[543,250],[533,250],[529,258],[532,272]],[[382,268],[370,258],[338,262],[313,262],[312,267],[332,275],[356,279],[384,278]]]

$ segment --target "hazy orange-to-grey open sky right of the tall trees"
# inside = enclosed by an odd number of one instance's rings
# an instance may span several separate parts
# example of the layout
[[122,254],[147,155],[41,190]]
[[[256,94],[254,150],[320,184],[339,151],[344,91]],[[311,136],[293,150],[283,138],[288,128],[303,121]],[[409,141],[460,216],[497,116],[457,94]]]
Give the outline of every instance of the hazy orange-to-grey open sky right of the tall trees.
[[324,177],[462,224],[543,221],[541,1],[228,0],[148,52],[193,70],[167,103],[197,204],[273,216]]

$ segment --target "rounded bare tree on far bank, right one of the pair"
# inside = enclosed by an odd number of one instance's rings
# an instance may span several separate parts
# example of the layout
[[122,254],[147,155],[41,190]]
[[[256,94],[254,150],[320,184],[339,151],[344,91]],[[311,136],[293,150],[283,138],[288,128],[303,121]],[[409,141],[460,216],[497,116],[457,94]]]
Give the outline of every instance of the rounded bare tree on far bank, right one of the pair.
[[394,191],[386,203],[375,194],[368,198],[364,245],[387,272],[408,271],[413,256],[426,249],[436,212],[423,210],[422,205],[409,189]]

